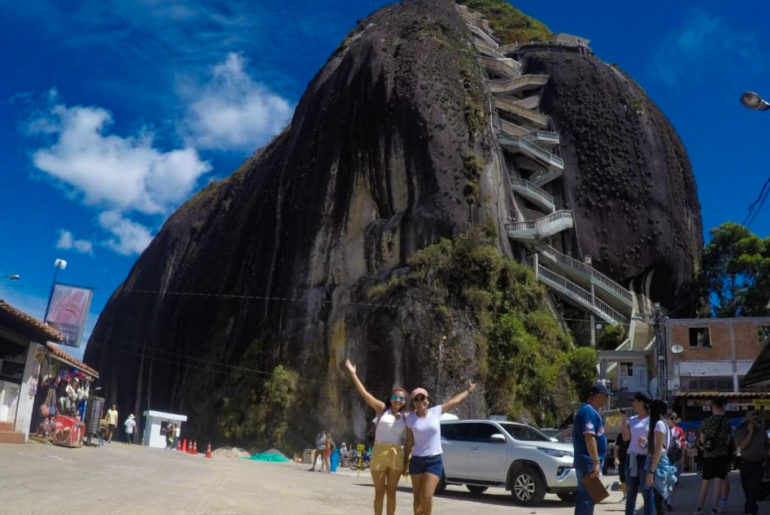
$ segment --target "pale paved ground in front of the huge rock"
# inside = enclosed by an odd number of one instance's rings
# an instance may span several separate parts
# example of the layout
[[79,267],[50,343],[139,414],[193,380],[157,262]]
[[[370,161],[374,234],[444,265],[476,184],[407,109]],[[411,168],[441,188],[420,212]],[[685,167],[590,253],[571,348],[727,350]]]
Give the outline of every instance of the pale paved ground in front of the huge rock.
[[[0,444],[0,514],[346,514],[371,513],[368,473],[308,472],[306,465],[232,458],[205,459],[176,451],[113,443],[67,449],[39,443]],[[611,482],[612,476],[607,478]],[[679,508],[692,509],[697,476],[684,478]],[[742,513],[742,494],[731,477],[730,513]],[[596,513],[622,513],[612,492]],[[411,513],[409,483],[402,482],[396,513]],[[770,513],[770,503],[761,509]],[[450,515],[566,515],[569,503],[547,495],[542,506],[515,506],[502,489],[474,497],[449,487],[435,499],[434,513]]]

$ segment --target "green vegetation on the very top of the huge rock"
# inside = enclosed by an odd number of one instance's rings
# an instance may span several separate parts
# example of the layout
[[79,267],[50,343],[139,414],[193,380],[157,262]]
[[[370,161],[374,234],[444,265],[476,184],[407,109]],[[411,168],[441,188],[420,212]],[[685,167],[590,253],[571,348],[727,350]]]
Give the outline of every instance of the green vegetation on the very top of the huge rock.
[[457,3],[485,18],[502,44],[551,41],[553,38],[553,33],[542,22],[505,0],[457,0]]

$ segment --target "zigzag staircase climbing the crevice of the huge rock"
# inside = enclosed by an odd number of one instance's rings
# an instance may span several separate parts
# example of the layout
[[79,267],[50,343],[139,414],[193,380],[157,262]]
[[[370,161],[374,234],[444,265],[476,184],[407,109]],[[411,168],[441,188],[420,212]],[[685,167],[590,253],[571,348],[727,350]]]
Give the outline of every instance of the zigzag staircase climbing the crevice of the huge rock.
[[[518,219],[505,224],[508,237],[525,249],[524,262],[538,279],[551,292],[586,311],[592,325],[594,317],[598,317],[605,323],[629,328],[636,312],[632,292],[590,263],[559,250],[560,235],[575,231],[576,227],[570,206],[560,194],[564,174],[564,161],[559,156],[560,137],[553,130],[550,118],[539,111],[548,75],[522,73],[519,52],[527,44],[499,45],[486,20],[464,6],[457,8],[470,31],[485,74],[486,88],[492,97],[490,114],[497,143],[505,157],[504,172],[515,211],[520,213]],[[557,36],[553,43],[535,45],[576,46],[575,51],[588,52],[581,47],[587,45],[587,40],[563,35]],[[629,332],[631,342],[641,336],[634,334],[636,332]]]

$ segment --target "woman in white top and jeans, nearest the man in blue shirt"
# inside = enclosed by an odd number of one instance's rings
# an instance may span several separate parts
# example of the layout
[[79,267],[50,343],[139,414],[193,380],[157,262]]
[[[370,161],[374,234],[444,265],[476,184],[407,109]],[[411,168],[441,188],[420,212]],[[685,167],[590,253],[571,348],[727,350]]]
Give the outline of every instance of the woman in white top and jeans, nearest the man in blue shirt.
[[644,464],[647,460],[647,438],[650,431],[650,404],[645,392],[636,392],[631,406],[636,415],[623,420],[623,440],[628,442],[626,456],[626,515],[636,511],[636,494],[642,491],[644,515],[652,514],[652,491],[644,485]]

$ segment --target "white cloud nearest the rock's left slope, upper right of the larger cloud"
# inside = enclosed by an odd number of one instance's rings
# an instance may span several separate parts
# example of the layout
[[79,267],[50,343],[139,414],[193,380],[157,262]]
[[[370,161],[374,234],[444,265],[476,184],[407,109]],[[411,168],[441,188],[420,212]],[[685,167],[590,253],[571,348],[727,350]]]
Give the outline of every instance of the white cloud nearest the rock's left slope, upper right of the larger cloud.
[[256,150],[278,134],[293,107],[246,72],[246,60],[230,53],[213,67],[205,84],[184,85],[189,102],[181,132],[188,141],[213,150]]

